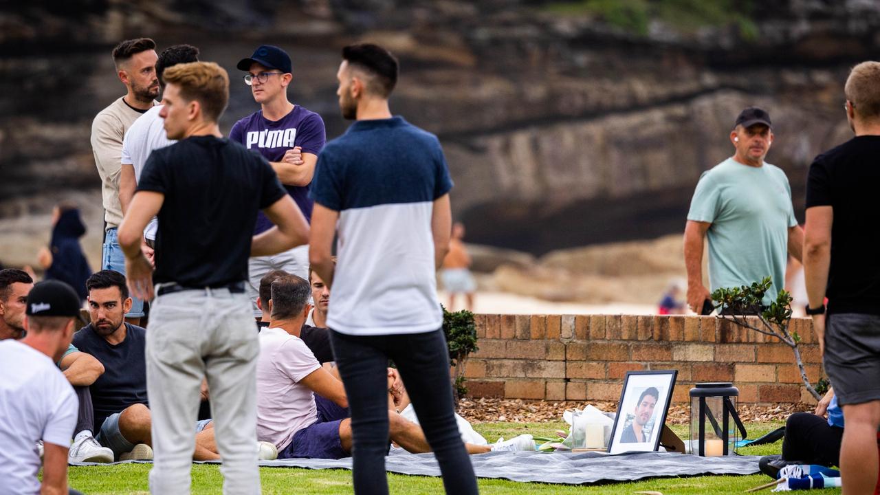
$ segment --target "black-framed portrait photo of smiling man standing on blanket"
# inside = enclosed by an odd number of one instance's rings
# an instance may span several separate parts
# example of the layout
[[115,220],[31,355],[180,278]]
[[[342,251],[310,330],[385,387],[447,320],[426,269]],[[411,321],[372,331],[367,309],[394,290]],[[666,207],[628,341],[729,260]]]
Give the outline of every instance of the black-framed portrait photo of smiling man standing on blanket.
[[678,370],[627,372],[608,445],[610,454],[656,451],[677,375]]

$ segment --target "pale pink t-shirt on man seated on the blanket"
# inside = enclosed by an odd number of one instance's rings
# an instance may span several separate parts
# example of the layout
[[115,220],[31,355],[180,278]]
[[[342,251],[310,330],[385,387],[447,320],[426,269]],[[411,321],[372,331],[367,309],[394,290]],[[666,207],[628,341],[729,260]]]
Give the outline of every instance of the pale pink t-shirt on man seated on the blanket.
[[297,336],[283,329],[260,331],[257,360],[257,439],[280,451],[294,433],[318,420],[312,390],[299,384],[321,367]]

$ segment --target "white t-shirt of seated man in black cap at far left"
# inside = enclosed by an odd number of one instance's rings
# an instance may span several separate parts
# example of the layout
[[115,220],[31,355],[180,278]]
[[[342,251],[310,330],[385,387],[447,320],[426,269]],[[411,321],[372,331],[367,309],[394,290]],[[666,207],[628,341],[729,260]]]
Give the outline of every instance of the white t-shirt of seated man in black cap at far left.
[[0,342],[0,495],[40,493],[37,440],[70,447],[79,402],[52,359]]

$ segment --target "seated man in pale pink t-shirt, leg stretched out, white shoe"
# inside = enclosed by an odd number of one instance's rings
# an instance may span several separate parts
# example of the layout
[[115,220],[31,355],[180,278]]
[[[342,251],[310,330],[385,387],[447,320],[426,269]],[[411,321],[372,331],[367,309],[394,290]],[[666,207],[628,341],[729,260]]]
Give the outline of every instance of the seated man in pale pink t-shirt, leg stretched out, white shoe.
[[[299,338],[309,313],[309,283],[296,276],[272,284],[272,321],[260,332],[257,362],[257,437],[275,444],[278,458],[339,459],[351,453],[351,419],[342,382],[321,367]],[[422,428],[388,410],[390,436],[409,452],[430,452]],[[470,454],[534,449],[531,438],[495,446],[466,444]]]

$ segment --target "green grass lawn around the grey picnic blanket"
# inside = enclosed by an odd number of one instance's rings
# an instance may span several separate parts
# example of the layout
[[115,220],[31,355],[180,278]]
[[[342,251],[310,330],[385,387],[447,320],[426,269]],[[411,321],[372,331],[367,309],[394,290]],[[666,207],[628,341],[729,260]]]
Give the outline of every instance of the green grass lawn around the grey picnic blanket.
[[[757,438],[774,430],[780,424],[747,424],[750,438]],[[506,439],[520,433],[548,435],[554,430],[566,429],[562,422],[553,423],[485,423],[474,425],[489,441],[499,436]],[[686,440],[686,426],[673,426],[679,437]],[[781,441],[772,445],[745,447],[741,454],[767,455],[781,452]],[[87,495],[99,494],[145,494],[148,492],[147,473],[150,464],[125,464],[116,466],[70,467],[70,486]],[[296,469],[296,468],[261,468],[263,493],[324,494],[350,493],[351,472],[347,469]],[[741,493],[748,488],[770,481],[764,475],[747,477],[683,477],[656,478],[625,484],[603,484],[592,486],[569,486],[561,484],[523,484],[499,479],[479,479],[480,492],[491,494],[512,494],[528,491],[530,495],[537,493],[587,493],[587,494],[618,494],[634,491],[661,491],[664,495],[674,493]],[[193,466],[193,493],[214,494],[220,491],[223,478],[216,465]],[[413,477],[406,475],[388,475],[392,493],[441,493],[443,484],[439,477]],[[825,490],[840,492],[840,489]]]

